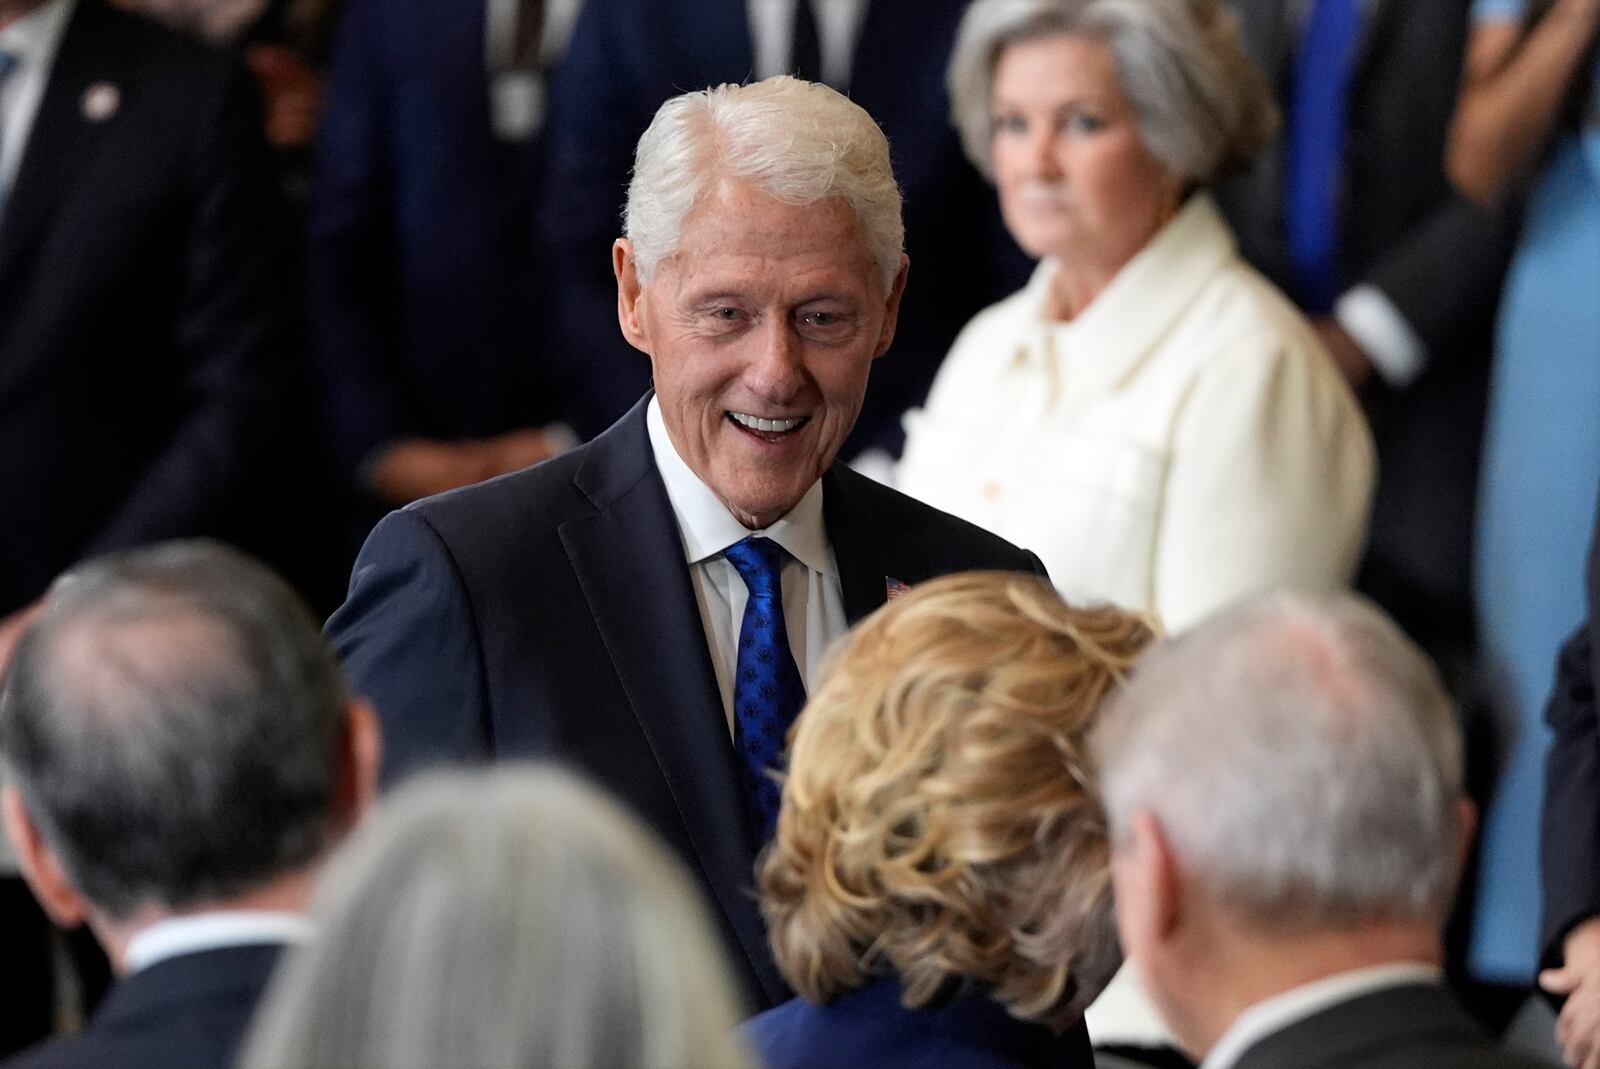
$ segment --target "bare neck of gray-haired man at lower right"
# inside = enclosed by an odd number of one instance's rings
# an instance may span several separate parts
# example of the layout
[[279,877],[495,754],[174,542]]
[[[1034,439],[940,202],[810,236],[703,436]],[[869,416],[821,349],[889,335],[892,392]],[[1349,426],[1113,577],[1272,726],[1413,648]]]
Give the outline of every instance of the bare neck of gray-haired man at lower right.
[[1211,963],[1190,973],[1186,1031],[1194,1034],[1182,1037],[1200,1055],[1246,1010],[1296,987],[1362,968],[1443,960],[1434,927],[1416,922],[1282,936],[1234,930],[1211,943]]

